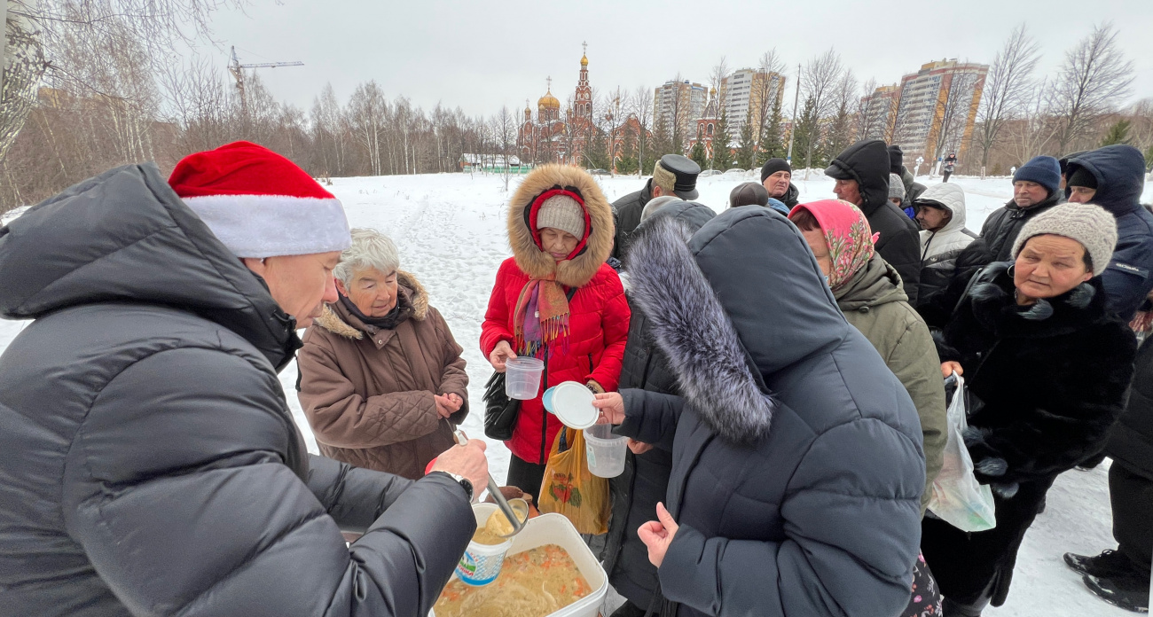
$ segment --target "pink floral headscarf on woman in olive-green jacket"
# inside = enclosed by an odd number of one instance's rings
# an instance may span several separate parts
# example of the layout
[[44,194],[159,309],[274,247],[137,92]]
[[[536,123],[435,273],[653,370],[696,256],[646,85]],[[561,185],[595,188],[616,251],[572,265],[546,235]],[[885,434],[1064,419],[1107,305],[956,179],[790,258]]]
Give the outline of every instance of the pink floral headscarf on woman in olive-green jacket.
[[824,232],[824,243],[829,246],[829,258],[832,261],[829,288],[835,292],[873,258],[873,243],[881,234],[873,233],[860,209],[843,200],[802,203],[792,209],[790,218],[801,209],[813,215]]

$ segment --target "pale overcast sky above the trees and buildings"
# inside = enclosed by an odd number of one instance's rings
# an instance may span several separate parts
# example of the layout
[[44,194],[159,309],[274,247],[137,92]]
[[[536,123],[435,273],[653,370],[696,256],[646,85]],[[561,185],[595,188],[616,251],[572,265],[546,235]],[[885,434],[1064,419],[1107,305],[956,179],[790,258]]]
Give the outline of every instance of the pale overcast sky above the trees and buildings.
[[589,80],[602,91],[651,90],[678,73],[707,83],[722,55],[730,68],[755,67],[773,47],[790,65],[790,95],[797,63],[829,46],[861,83],[886,84],[933,60],[989,63],[1020,22],[1041,45],[1039,74],[1053,75],[1092,24],[1111,21],[1136,68],[1130,100],[1153,97],[1148,0],[251,1],[244,14],[216,15],[225,51],[201,53],[221,66],[228,45],[242,62],[303,61],[259,75],[273,96],[306,111],[326,82],[344,103],[369,80],[390,98],[405,95],[425,110],[440,101],[488,115],[502,105],[522,108],[526,98],[535,110],[550,75],[557,98],[572,93],[586,40]]

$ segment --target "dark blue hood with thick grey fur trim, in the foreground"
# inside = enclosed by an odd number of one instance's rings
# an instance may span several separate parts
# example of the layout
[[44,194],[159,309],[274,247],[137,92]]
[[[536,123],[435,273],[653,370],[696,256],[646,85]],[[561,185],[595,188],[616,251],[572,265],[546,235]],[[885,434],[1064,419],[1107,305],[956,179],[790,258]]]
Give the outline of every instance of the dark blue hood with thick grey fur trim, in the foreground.
[[669,217],[638,231],[631,298],[685,398],[725,441],[764,437],[777,402],[752,371],[787,370],[851,328],[805,239],[762,208],[728,210],[692,235]]

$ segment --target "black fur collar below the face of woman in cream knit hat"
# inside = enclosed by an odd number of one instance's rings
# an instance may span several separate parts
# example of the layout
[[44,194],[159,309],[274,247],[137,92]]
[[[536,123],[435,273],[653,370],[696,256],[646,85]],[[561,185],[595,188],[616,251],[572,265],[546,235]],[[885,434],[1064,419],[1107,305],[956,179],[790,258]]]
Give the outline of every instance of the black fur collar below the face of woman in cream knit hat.
[[1108,299],[1101,287],[1101,277],[1082,283],[1056,298],[1022,307],[1013,294],[1009,265],[1008,262],[992,264],[969,292],[973,317],[997,337],[1053,337],[1108,318]]

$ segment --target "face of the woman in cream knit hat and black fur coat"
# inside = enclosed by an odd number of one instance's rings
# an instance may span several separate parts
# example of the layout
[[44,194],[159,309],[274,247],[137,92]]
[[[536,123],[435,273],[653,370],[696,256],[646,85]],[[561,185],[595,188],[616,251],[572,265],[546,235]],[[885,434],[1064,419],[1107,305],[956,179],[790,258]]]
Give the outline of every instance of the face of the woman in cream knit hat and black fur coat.
[[1030,238],[1013,264],[1013,285],[1028,299],[1055,298],[1091,278],[1085,247],[1063,235]]

